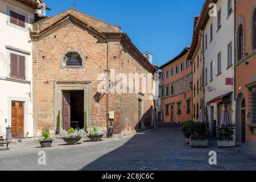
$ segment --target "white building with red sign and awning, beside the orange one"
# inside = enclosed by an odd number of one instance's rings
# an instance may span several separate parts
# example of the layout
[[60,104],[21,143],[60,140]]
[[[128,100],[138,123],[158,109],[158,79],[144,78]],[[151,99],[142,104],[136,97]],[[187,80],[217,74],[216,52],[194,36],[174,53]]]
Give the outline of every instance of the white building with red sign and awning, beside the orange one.
[[[216,13],[204,27],[205,113],[216,134],[222,109],[235,122],[234,0],[216,1]],[[205,7],[204,7],[205,8]],[[216,16],[217,15],[217,16]]]

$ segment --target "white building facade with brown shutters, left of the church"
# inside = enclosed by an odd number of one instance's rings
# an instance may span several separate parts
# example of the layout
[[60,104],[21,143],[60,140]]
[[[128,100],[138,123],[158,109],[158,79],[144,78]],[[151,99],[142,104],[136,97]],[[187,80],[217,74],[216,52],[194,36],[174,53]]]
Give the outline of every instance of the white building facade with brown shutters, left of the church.
[[39,3],[0,0],[0,127],[14,138],[34,137],[30,30]]

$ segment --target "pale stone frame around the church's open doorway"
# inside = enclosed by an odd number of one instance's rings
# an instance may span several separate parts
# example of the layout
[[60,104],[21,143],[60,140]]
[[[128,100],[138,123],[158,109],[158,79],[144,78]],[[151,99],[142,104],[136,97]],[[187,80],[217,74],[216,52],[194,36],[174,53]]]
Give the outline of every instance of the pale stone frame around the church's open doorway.
[[84,111],[87,115],[87,125],[90,130],[90,82],[56,82],[54,87],[54,126],[56,130],[57,115],[60,111],[60,130],[62,129],[62,105],[63,105],[63,90],[84,90]]

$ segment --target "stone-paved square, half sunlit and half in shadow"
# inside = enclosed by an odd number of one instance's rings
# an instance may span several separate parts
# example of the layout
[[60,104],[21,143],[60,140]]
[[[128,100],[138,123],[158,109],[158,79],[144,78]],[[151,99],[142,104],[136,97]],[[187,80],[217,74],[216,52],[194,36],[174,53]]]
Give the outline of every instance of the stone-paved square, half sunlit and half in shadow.
[[[11,145],[0,151],[0,170],[256,170],[256,150],[236,148],[191,148],[179,127],[156,127],[122,139],[67,146],[57,139],[51,148],[39,144]],[[38,164],[45,151],[46,165]],[[209,151],[217,152],[217,165],[210,166]]]

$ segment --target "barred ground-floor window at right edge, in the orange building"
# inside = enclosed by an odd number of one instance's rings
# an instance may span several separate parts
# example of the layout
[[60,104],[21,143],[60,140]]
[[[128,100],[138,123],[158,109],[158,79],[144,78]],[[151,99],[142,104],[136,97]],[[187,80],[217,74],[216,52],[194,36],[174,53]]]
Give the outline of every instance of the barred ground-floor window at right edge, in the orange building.
[[256,86],[249,88],[250,123],[256,124]]

